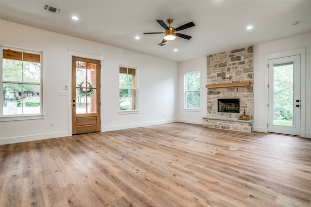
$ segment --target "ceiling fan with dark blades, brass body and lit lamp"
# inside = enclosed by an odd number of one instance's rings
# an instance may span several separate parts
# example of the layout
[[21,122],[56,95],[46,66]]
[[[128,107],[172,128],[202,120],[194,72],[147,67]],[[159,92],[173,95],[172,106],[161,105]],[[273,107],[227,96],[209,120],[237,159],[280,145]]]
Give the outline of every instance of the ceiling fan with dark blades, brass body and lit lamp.
[[161,25],[165,29],[165,32],[145,32],[143,34],[165,33],[164,39],[162,40],[162,42],[160,44],[158,44],[160,46],[165,45],[164,43],[166,43],[168,40],[174,40],[176,38],[176,36],[190,40],[191,36],[186,35],[186,34],[176,33],[176,32],[195,26],[193,22],[189,22],[187,24],[181,25],[180,27],[173,28],[173,27],[171,27],[171,23],[173,22],[173,19],[166,20],[166,22],[169,23],[169,26],[167,26],[163,20],[157,19],[156,21],[157,21],[157,23],[159,23],[159,25]]

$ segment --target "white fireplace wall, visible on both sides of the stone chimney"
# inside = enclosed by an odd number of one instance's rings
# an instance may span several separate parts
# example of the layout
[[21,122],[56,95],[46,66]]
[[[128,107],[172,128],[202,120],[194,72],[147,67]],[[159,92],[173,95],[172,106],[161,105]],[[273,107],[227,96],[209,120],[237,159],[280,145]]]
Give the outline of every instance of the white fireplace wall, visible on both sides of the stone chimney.
[[[311,138],[311,33],[297,35],[290,38],[276,40],[268,43],[254,45],[254,119],[258,122],[254,122],[254,131],[264,132],[264,118],[265,114],[264,103],[265,96],[265,55],[282,52],[297,48],[306,48],[306,120],[305,120],[305,137]],[[208,55],[208,54],[207,54]],[[178,64],[179,75],[179,105],[178,105],[178,120],[188,123],[202,123],[202,116],[207,115],[207,89],[205,88],[207,79],[204,78],[203,72],[207,72],[206,56],[198,59],[180,62]],[[202,72],[201,79],[201,111],[190,112],[183,110],[184,103],[184,73],[200,70]],[[207,77],[205,75],[205,77]],[[192,115],[192,116],[191,116]]]

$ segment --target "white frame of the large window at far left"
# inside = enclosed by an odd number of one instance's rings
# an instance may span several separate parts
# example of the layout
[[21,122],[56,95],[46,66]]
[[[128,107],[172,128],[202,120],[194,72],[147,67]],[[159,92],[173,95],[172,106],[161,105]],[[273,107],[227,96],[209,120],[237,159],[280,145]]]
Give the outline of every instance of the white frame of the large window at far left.
[[[20,52],[28,52],[28,53],[37,53],[40,55],[40,82],[28,82],[28,81],[4,81],[3,80],[3,49],[11,49]],[[24,61],[24,60],[22,60]],[[26,48],[18,48],[6,45],[0,45],[0,91],[3,90],[3,83],[18,83],[18,84],[34,84],[39,85],[40,87],[40,113],[32,113],[32,114],[7,114],[3,115],[3,96],[0,97],[0,122],[3,121],[17,121],[17,120],[32,120],[32,119],[43,119],[43,52],[26,49]]]

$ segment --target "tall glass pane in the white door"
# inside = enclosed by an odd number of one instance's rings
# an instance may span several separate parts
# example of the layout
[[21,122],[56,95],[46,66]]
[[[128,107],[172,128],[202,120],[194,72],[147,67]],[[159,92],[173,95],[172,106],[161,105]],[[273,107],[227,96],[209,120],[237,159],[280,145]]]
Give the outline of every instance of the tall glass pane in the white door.
[[273,65],[273,124],[294,126],[294,64]]

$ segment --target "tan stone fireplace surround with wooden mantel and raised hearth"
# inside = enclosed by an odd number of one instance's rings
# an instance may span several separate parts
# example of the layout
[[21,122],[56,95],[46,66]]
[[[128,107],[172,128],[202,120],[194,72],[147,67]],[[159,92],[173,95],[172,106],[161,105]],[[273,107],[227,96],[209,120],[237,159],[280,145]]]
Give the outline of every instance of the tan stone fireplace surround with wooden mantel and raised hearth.
[[[203,127],[253,131],[253,46],[207,56],[207,116]],[[240,113],[218,112],[218,99],[240,99]],[[251,120],[239,120],[240,114]]]

